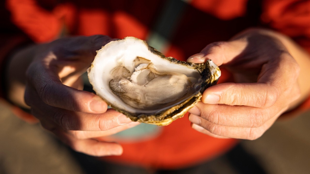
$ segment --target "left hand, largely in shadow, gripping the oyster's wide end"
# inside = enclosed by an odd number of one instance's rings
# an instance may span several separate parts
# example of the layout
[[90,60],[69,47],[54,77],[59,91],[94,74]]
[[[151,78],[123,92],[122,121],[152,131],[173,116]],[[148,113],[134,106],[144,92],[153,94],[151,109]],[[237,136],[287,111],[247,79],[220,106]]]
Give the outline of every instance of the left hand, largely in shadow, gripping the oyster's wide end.
[[112,109],[97,95],[82,89],[80,76],[107,36],[72,37],[35,46],[27,70],[25,102],[42,126],[74,150],[95,156],[120,155],[122,147],[94,137],[110,135],[139,123]]

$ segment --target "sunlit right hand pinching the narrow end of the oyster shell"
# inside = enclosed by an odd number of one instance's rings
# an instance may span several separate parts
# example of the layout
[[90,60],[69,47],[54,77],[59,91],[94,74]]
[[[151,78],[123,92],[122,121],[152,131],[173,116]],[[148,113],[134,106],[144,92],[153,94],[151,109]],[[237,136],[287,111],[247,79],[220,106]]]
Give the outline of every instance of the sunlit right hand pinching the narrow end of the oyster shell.
[[[278,39],[280,38],[280,39]],[[188,62],[213,60],[236,83],[211,86],[189,112],[192,128],[219,138],[259,138],[300,96],[300,67],[283,44],[266,30],[248,30],[227,42],[215,42]]]

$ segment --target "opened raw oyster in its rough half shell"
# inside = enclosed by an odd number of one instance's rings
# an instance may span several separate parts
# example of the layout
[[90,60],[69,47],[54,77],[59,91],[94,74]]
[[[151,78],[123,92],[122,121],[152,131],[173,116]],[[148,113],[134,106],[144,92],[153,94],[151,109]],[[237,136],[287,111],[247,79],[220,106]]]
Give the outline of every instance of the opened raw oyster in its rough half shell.
[[221,74],[211,60],[195,64],[165,57],[135,37],[103,46],[87,72],[109,106],[133,121],[157,125],[182,117]]

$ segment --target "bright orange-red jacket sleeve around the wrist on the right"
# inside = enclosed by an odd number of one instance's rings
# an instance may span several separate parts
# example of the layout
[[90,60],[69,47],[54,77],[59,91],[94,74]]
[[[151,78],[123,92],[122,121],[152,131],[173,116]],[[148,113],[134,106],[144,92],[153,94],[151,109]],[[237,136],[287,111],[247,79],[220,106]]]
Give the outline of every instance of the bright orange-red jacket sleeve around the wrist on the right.
[[[286,34],[310,53],[310,1],[265,0],[262,22]],[[310,96],[290,115],[297,115],[310,108]]]

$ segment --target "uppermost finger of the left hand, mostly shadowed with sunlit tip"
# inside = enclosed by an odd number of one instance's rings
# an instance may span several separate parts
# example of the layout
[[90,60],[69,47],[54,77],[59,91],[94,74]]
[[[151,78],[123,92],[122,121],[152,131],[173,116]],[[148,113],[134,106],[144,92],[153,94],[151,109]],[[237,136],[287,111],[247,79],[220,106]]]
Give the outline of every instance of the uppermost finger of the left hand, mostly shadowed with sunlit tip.
[[[107,109],[106,102],[100,97],[62,84],[55,74],[40,64],[30,65],[27,74],[40,100],[48,105],[88,113],[103,113]],[[31,90],[29,87],[28,91]],[[30,105],[32,96],[26,95],[25,100]]]

